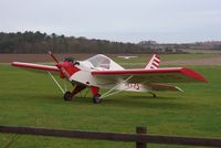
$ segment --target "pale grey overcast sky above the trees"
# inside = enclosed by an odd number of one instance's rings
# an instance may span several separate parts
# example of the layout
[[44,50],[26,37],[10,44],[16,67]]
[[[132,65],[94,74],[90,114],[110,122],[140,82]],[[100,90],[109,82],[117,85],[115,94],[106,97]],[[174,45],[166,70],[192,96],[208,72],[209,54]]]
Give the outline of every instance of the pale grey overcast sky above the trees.
[[221,0],[0,0],[0,31],[122,42],[221,41]]

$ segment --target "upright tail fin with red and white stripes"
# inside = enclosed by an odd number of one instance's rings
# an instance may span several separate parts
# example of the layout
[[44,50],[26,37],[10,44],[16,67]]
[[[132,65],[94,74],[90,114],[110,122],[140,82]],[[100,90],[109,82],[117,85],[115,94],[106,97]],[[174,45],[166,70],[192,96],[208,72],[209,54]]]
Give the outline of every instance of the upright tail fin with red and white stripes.
[[147,62],[145,70],[158,68],[160,63],[160,57],[157,54],[152,54]]

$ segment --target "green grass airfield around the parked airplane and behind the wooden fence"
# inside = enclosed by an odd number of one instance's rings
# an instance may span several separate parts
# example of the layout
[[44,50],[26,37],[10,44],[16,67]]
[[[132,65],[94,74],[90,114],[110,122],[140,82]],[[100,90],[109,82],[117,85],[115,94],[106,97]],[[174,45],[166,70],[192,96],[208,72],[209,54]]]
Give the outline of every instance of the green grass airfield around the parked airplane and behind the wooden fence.
[[[192,59],[193,55],[165,55],[165,59]],[[128,62],[117,57],[114,60],[119,64]],[[146,60],[141,56],[134,59],[133,63],[145,63]],[[191,68],[204,75],[209,83],[176,84],[185,93],[157,93],[157,98],[148,93],[126,92],[95,105],[91,94],[82,97],[84,93],[72,102],[64,102],[62,93],[49,75],[1,64],[0,125],[116,133],[135,133],[136,126],[141,125],[147,126],[149,134],[156,135],[221,137],[221,66]],[[0,148],[13,138],[14,135],[0,134]],[[11,147],[133,148],[135,144],[19,136]]]

